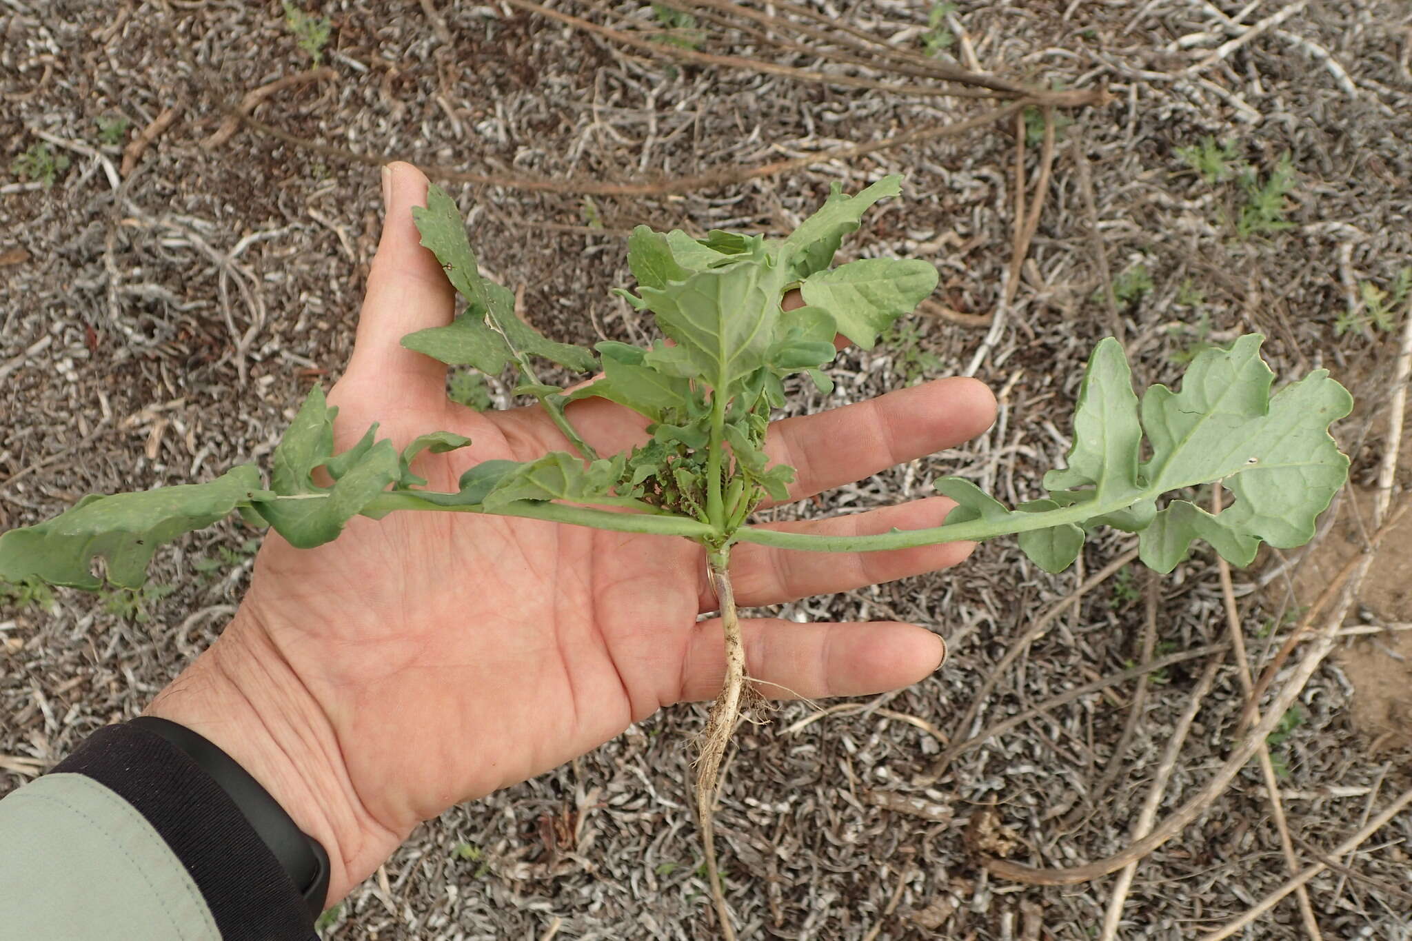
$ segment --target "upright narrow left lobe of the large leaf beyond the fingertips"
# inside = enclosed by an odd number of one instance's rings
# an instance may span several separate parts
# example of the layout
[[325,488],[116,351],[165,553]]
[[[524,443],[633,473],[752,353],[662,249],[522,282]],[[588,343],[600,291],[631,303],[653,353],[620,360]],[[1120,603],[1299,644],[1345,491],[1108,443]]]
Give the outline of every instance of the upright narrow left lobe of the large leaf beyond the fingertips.
[[1048,490],[1093,487],[1094,499],[1121,499],[1139,492],[1138,396],[1123,344],[1107,337],[1089,357],[1073,415],[1073,446],[1066,467],[1045,474]]

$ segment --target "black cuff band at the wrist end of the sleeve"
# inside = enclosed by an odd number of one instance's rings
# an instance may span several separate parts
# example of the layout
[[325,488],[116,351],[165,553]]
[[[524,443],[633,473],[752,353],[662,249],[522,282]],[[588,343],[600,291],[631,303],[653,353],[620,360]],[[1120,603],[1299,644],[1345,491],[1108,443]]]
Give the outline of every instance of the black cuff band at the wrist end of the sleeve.
[[55,773],[86,775],[131,804],[191,873],[223,941],[313,938],[313,916],[274,852],[196,762],[133,725],[89,735]]

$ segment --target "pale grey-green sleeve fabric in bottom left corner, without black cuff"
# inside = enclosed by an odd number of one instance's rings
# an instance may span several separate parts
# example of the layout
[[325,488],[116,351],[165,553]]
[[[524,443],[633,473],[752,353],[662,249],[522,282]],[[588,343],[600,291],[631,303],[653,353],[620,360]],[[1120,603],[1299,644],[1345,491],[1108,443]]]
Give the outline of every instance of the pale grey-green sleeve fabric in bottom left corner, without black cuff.
[[0,800],[0,941],[220,941],[195,880],[131,804],[83,775]]

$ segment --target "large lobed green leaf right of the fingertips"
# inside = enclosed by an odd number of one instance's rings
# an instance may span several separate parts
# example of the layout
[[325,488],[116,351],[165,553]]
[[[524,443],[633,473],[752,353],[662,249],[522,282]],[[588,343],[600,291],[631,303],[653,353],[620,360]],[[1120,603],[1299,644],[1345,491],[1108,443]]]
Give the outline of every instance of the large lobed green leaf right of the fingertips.
[[[1048,571],[1072,563],[1083,528],[1100,523],[1141,533],[1139,556],[1156,571],[1171,571],[1197,539],[1237,566],[1250,564],[1261,542],[1309,542],[1348,475],[1329,426],[1353,398],[1324,370],[1271,396],[1262,339],[1202,351],[1179,391],[1154,385],[1141,405],[1121,346],[1101,341],[1084,372],[1067,467],[1045,475],[1049,497],[1008,511],[973,484],[938,481],[959,504],[946,525],[983,521],[997,535],[1019,533],[1021,549]],[[1144,435],[1151,456],[1139,461]],[[1200,485],[1226,487],[1234,499],[1216,515],[1187,499],[1158,509],[1172,491]]]

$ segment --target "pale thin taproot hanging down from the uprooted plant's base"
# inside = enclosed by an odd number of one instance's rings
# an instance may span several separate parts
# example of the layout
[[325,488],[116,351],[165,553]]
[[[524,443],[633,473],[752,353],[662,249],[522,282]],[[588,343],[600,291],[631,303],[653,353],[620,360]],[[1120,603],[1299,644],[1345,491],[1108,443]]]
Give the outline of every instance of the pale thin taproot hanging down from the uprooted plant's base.
[[730,906],[726,904],[726,887],[716,868],[716,790],[720,780],[720,763],[726,756],[726,745],[740,718],[740,700],[746,691],[746,645],[740,636],[740,617],[736,612],[736,593],[730,584],[730,547],[712,552],[707,556],[710,583],[720,604],[720,624],[726,635],[726,681],[716,703],[712,705],[706,731],[702,735],[702,753],[696,762],[696,815],[702,825],[702,845],[706,851],[706,878],[710,882],[712,899],[716,901],[716,917],[720,921],[720,937],[736,941],[736,928],[730,921]]

